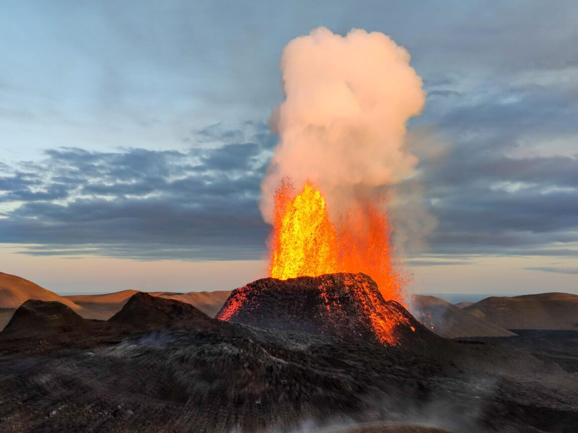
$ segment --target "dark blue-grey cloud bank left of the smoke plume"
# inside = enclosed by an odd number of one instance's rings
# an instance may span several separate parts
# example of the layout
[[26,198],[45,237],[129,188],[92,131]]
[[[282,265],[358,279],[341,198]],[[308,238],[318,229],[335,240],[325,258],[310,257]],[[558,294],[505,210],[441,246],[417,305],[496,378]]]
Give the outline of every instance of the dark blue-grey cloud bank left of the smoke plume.
[[[267,227],[257,207],[266,161],[258,143],[188,152],[50,150],[7,173],[0,238],[32,255],[258,259]],[[6,167],[3,167],[6,170]]]

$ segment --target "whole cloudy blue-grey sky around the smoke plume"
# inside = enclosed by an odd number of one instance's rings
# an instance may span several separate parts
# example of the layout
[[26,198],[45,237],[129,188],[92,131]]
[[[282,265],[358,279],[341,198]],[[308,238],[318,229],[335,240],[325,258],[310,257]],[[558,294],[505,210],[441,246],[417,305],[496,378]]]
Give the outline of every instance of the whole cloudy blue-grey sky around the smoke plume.
[[0,271],[58,293],[264,277],[280,55],[323,25],[385,33],[424,80],[410,289],[578,293],[577,22],[573,1],[6,0]]

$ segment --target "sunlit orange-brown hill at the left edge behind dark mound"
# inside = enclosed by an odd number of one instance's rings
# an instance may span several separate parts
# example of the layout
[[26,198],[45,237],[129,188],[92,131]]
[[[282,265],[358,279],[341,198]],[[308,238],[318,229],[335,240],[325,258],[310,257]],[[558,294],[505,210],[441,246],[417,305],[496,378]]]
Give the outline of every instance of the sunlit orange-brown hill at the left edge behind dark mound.
[[29,299],[58,301],[81,311],[81,307],[69,298],[50,292],[27,279],[0,272],[0,308],[18,308]]

